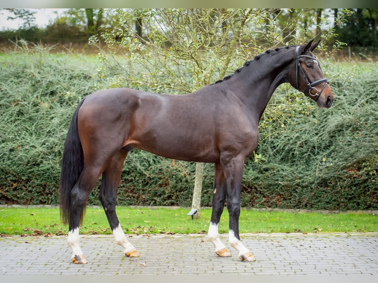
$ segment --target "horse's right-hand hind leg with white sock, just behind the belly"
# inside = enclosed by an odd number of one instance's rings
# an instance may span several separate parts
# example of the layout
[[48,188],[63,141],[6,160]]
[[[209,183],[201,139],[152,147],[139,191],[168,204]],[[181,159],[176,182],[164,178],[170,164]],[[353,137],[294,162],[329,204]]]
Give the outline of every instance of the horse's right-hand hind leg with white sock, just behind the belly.
[[126,236],[118,221],[118,217],[115,212],[117,188],[119,184],[119,178],[122,171],[123,162],[127,156],[127,151],[121,150],[117,152],[102,175],[102,182],[100,188],[100,201],[103,205],[105,214],[108,218],[109,225],[112,229],[115,244],[123,248],[123,252],[128,257],[139,256],[138,251],[133,245],[126,239]]

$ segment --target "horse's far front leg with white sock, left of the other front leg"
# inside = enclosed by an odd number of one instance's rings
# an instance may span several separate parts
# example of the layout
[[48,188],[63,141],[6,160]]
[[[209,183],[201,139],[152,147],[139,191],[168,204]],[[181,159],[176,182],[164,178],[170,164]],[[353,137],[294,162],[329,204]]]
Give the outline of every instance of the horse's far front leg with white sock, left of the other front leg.
[[207,239],[215,246],[215,253],[218,256],[231,256],[226,246],[219,237],[219,222],[226,201],[226,182],[223,174],[222,165],[215,164],[214,187],[213,187],[213,207],[211,212],[210,226],[207,233]]

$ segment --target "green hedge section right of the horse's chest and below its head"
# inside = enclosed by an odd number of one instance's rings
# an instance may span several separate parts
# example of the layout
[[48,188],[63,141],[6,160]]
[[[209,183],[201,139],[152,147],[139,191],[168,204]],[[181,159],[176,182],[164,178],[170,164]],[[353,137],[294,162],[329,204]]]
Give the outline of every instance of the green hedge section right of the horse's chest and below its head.
[[281,133],[262,129],[265,137],[256,152],[266,161],[246,164],[245,205],[378,208],[377,64],[338,66],[332,68],[335,102],[330,109],[314,108]]

